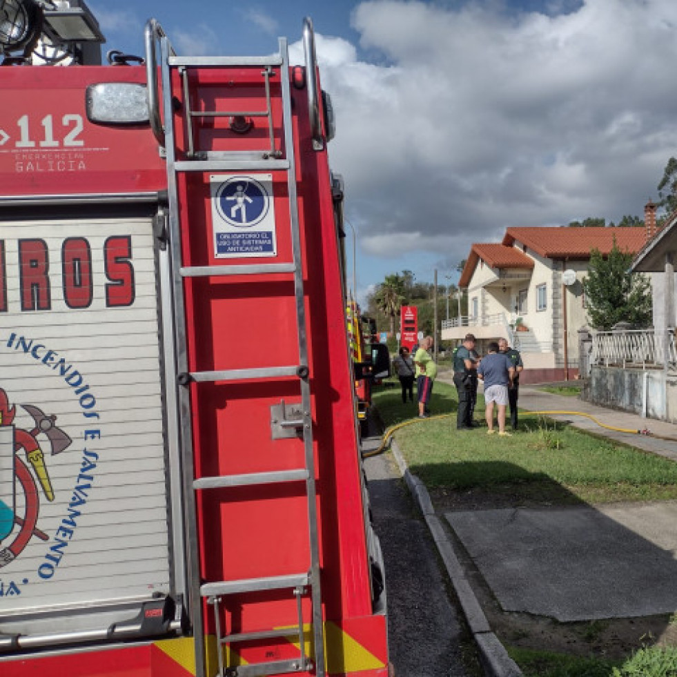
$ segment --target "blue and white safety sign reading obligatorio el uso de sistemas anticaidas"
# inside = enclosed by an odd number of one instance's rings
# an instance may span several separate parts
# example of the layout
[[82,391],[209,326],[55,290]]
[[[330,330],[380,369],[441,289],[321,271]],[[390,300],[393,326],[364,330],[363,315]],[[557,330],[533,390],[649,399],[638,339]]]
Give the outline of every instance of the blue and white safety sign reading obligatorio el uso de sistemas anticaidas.
[[277,255],[272,175],[213,175],[210,182],[214,256]]

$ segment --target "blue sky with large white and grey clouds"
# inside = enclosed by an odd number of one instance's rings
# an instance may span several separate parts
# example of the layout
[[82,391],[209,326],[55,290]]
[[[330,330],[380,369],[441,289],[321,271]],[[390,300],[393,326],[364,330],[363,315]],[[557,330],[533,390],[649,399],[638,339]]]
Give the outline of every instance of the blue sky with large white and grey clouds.
[[155,17],[181,55],[265,55],[285,36],[302,63],[313,19],[362,301],[403,270],[458,282],[471,244],[509,226],[643,218],[677,155],[674,0],[88,5],[104,50],[139,55]]

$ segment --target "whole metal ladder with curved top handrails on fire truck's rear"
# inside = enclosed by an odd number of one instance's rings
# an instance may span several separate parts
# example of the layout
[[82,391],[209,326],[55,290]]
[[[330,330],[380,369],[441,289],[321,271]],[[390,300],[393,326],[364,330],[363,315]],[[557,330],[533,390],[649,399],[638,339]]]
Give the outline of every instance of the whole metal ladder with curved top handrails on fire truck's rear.
[[[164,126],[161,123],[159,90],[157,86],[157,57],[156,47],[159,44],[160,70],[162,79]],[[315,79],[315,46],[312,23],[304,21],[304,46],[306,48],[306,72],[308,75],[308,106],[311,113],[313,132],[313,147],[322,147],[320,132],[317,81]],[[266,111],[228,112],[228,111],[201,111],[190,110],[190,82],[188,72],[191,68],[263,68],[264,88],[266,92]],[[172,97],[171,72],[179,70],[179,76],[184,92],[183,115],[186,121],[187,152],[186,159],[177,159],[175,127],[173,115],[175,113]],[[284,148],[287,157],[275,148],[273,136],[273,119],[269,76],[273,69],[279,69],[282,84],[282,121],[284,126]],[[188,384],[190,382],[224,382],[241,380],[266,380],[276,377],[297,377],[301,391],[301,413],[297,420],[285,420],[283,426],[293,427],[302,431],[304,444],[305,467],[293,470],[280,470],[266,473],[250,473],[245,475],[223,475],[216,477],[185,478],[184,501],[186,503],[186,518],[189,522],[188,537],[188,568],[190,580],[190,609],[192,609],[193,633],[195,637],[195,662],[197,676],[206,674],[205,659],[205,631],[202,614],[202,600],[206,598],[208,604],[215,611],[215,626],[217,628],[217,646],[219,660],[219,676],[248,677],[257,675],[277,675],[315,670],[315,674],[324,677],[324,632],[322,625],[322,596],[320,592],[320,548],[317,529],[315,467],[313,458],[313,426],[311,418],[311,389],[308,380],[308,348],[306,342],[306,313],[304,308],[304,287],[301,258],[300,226],[297,209],[297,185],[294,158],[294,139],[291,110],[291,91],[289,77],[289,58],[286,39],[279,39],[279,54],[273,57],[177,57],[164,31],[155,19],[150,19],[146,25],[146,70],[148,74],[148,105],[150,122],[153,133],[159,142],[161,153],[166,156],[168,177],[168,241],[171,259],[173,314],[175,325],[176,371],[178,384],[178,409],[181,458],[184,468],[193,469],[193,445],[191,435],[190,396]],[[207,117],[267,117],[270,131],[271,147],[266,151],[203,151],[195,147],[194,120]],[[177,176],[185,172],[212,172],[212,171],[266,171],[284,170],[287,177],[289,219],[291,224],[291,239],[293,249],[292,263],[254,264],[254,265],[215,265],[193,266],[181,265],[181,226],[179,224],[179,197]],[[227,277],[229,275],[266,275],[277,273],[293,273],[295,306],[297,314],[298,355],[297,364],[288,366],[274,366],[269,369],[237,369],[227,371],[188,371],[188,355],[186,345],[186,313],[184,307],[184,279],[186,277]],[[283,404],[284,407],[284,404]],[[184,471],[187,473],[188,471]],[[195,493],[209,491],[222,487],[241,487],[256,484],[271,484],[273,482],[305,482],[306,502],[308,507],[308,542],[310,561],[308,569],[288,576],[273,576],[270,578],[251,578],[245,580],[209,581],[202,582],[199,577],[199,551],[197,544],[197,518],[195,507]],[[223,598],[247,592],[286,590],[288,589],[297,602],[297,628],[275,630],[262,629],[261,631],[239,634],[222,634],[219,618],[219,605]],[[308,594],[312,607],[312,636],[313,657],[306,656],[307,640],[304,637],[304,619],[302,618],[301,600]],[[267,638],[282,638],[297,636],[300,645],[300,654],[292,660],[268,661],[238,667],[224,667],[224,645],[235,645],[237,642],[262,640]]]

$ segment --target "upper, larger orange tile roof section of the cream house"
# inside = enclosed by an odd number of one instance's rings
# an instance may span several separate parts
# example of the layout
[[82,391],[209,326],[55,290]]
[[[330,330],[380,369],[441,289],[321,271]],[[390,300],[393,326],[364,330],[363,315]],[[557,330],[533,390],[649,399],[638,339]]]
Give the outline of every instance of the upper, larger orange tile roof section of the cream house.
[[645,228],[508,228],[503,244],[516,241],[550,259],[588,259],[593,249],[608,254],[616,244],[621,251],[636,254],[647,239]]

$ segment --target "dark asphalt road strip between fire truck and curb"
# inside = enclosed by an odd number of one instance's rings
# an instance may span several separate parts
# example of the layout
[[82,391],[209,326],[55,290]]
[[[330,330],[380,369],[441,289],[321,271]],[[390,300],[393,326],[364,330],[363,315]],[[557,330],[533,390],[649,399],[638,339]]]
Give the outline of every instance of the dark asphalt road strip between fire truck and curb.
[[435,544],[391,457],[367,458],[374,528],[383,550],[391,663],[395,677],[475,677],[462,655],[474,654],[461,612],[449,598]]

